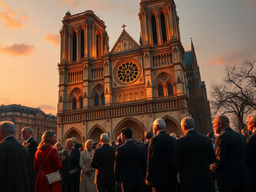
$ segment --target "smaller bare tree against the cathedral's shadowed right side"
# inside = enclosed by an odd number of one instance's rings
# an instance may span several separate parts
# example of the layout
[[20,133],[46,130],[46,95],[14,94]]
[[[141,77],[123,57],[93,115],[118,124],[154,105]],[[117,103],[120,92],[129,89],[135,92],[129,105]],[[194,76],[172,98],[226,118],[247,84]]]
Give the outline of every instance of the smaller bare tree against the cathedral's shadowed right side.
[[195,129],[201,134],[212,132],[212,117],[210,105],[205,101],[203,91],[193,90],[189,93],[187,110],[195,120]]

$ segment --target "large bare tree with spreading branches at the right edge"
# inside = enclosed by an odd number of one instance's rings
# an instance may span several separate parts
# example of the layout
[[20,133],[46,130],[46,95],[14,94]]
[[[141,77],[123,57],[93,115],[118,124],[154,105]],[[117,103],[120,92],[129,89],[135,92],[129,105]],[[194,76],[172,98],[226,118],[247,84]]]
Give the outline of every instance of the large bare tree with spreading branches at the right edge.
[[256,110],[255,59],[245,59],[239,65],[225,65],[222,82],[210,84],[213,114],[222,113],[235,116],[237,127],[245,127],[244,116]]

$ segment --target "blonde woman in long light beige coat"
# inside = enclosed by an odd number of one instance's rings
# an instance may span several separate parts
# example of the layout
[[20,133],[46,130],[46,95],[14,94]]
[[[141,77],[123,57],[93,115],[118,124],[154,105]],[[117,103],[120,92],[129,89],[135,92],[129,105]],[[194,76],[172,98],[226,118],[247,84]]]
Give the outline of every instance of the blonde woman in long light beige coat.
[[90,161],[93,153],[94,141],[89,139],[84,144],[84,151],[82,151],[80,156],[80,167],[81,177],[80,177],[80,192],[97,192],[96,185],[94,184],[95,169],[90,167]]

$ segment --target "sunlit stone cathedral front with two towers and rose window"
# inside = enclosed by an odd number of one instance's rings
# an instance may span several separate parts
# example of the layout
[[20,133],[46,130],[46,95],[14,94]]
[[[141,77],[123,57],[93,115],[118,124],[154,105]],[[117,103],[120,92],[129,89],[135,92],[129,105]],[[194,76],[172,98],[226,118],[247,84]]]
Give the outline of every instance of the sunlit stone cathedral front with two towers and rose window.
[[138,140],[156,118],[165,120],[167,133],[183,134],[189,86],[175,3],[139,4],[139,44],[123,25],[112,50],[107,26],[93,11],[64,16],[57,114],[62,143],[73,136],[79,143],[99,142],[102,133],[114,141],[125,127]]

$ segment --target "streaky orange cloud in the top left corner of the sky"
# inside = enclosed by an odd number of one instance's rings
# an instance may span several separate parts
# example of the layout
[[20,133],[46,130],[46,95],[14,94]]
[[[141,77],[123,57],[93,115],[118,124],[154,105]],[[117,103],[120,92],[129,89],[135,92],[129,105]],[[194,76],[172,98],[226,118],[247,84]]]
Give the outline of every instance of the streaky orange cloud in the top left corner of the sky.
[[[15,7],[15,10],[11,9],[3,0],[0,0],[0,6],[3,8],[3,12],[0,12],[0,19],[3,20],[3,24],[6,28],[21,29],[23,22],[28,21],[26,12],[23,9],[19,7]],[[19,14],[19,16],[17,16],[16,13]]]

